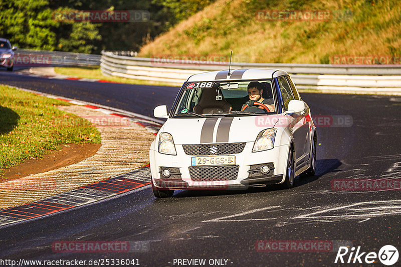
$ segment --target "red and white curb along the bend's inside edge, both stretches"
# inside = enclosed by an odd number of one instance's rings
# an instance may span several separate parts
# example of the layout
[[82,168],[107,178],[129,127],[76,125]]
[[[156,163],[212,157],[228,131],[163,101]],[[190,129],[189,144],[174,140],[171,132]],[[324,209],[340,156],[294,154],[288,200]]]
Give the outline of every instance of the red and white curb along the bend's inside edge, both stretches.
[[[129,119],[134,123],[143,126],[153,134],[157,133],[163,123],[163,121],[158,121],[157,119],[153,119],[148,116],[110,106],[93,104],[86,101],[70,99],[67,97],[61,97],[7,84],[4,85],[32,92],[37,95],[68,101],[72,104],[84,105],[89,108],[97,109],[105,114]],[[149,185],[150,180],[150,167],[149,165],[145,165],[139,169],[135,169],[100,182],[85,185],[72,191],[46,197],[44,199],[29,204],[2,209],[0,210],[0,226],[53,214],[62,210],[99,201],[107,197],[111,197]]]

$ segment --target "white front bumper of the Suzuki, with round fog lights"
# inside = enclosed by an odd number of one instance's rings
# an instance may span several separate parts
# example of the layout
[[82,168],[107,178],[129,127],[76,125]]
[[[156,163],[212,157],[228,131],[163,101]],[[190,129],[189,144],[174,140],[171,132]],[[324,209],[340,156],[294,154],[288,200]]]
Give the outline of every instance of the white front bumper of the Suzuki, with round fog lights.
[[[150,170],[153,186],[157,189],[246,189],[249,186],[275,184],[284,181],[283,173],[287,163],[288,145],[275,146],[266,151],[252,152],[254,142],[247,142],[241,153],[235,153],[236,165],[218,165],[214,168],[238,166],[233,177],[228,172],[219,174],[220,178],[194,178],[191,157],[185,154],[182,145],[175,145],[177,155],[160,154],[150,150]],[[270,171],[262,174],[259,165],[269,164]],[[172,175],[164,177],[162,169],[171,168]],[[211,166],[208,166],[211,167]],[[220,172],[219,172],[220,173]],[[205,174],[203,175],[205,177]],[[229,178],[225,178],[229,177]]]

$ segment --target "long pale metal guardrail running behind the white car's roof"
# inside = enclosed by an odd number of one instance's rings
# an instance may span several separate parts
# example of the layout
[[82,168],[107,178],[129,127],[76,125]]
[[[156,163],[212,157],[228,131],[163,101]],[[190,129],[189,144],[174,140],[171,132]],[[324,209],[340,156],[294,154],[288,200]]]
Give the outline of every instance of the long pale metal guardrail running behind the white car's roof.
[[[162,60],[122,56],[102,51],[101,71],[105,75],[152,80],[181,85],[192,74],[228,68],[228,62]],[[336,92],[401,94],[401,66],[232,62],[231,68],[279,68],[292,73],[298,88]]]

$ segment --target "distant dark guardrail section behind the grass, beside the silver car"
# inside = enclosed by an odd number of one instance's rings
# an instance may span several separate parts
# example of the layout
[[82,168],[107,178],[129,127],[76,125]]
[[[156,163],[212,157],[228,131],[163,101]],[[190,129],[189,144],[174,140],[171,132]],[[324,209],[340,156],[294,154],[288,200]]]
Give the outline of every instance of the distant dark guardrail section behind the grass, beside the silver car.
[[15,51],[15,65],[99,65],[100,57],[100,54],[18,49]]

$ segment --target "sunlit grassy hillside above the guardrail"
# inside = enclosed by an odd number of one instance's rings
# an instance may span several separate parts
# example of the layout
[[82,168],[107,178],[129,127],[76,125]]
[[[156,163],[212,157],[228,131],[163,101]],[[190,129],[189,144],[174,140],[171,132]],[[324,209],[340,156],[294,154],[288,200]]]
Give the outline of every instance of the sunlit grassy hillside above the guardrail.
[[[268,20],[272,10],[328,10],[330,18]],[[233,61],[243,62],[331,63],[333,55],[399,58],[401,2],[217,0],[142,46],[139,55],[227,56],[231,50]]]

